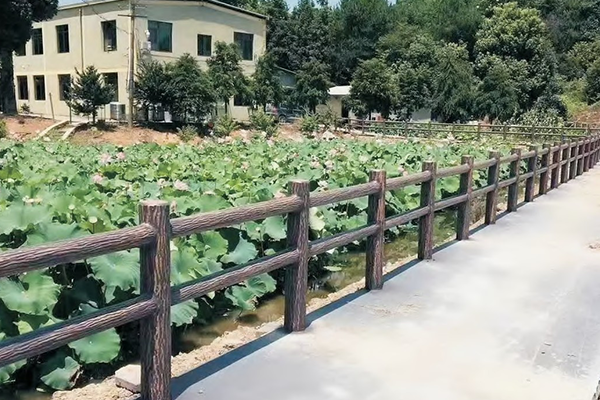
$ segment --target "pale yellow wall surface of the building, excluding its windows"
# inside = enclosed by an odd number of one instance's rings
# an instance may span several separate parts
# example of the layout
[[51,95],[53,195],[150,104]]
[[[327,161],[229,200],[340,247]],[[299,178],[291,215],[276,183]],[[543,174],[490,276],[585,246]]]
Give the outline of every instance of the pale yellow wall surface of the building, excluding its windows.
[[[146,57],[161,61],[173,61],[184,53],[190,53],[198,58],[202,68],[206,68],[207,57],[197,56],[197,35],[212,35],[214,51],[216,41],[233,42],[233,32],[254,34],[254,60],[243,61],[244,72],[254,72],[256,60],[266,46],[266,21],[264,19],[243,14],[234,10],[218,7],[197,1],[161,1],[144,0],[138,2],[142,7],[140,15],[147,18],[136,18],[136,53],[142,51]],[[128,30],[129,18],[128,1],[107,1],[91,3],[86,6],[61,7],[57,15],[50,21],[36,23],[34,28],[42,28],[44,54],[33,55],[29,41],[25,56],[14,56],[15,88],[18,96],[17,76],[26,76],[29,86],[29,100],[17,100],[20,107],[29,104],[31,112],[50,116],[52,108],[57,118],[69,115],[69,108],[64,101],[59,100],[58,75],[75,74],[75,68],[81,69],[94,65],[101,73],[118,73],[118,100],[127,104],[127,69],[128,69]],[[106,52],[102,42],[101,22],[116,20],[117,50]],[[147,21],[157,20],[173,24],[173,51],[144,52],[147,48]],[[57,51],[57,25],[69,25],[69,53]],[[46,84],[46,100],[35,100],[34,75],[44,75]],[[50,101],[52,99],[52,101]],[[52,103],[52,106],[51,106]],[[246,107],[233,106],[230,102],[232,116],[236,119],[247,119]],[[100,116],[108,117],[108,107]]]

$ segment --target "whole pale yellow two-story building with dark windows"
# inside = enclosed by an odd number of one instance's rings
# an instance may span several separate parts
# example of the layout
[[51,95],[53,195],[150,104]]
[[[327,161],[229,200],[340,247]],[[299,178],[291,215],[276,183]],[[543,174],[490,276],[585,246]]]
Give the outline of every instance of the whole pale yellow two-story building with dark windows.
[[[170,62],[189,53],[205,69],[215,42],[235,42],[244,73],[250,75],[265,52],[263,15],[216,0],[131,1],[133,7],[127,0],[62,6],[53,19],[35,23],[31,39],[13,58],[17,106],[27,104],[34,114],[69,116],[65,95],[75,69],[88,65],[115,87],[114,101],[127,104],[132,25],[135,64],[140,57]],[[230,99],[229,106],[234,118],[247,119],[245,105]],[[109,117],[108,107],[103,114]]]

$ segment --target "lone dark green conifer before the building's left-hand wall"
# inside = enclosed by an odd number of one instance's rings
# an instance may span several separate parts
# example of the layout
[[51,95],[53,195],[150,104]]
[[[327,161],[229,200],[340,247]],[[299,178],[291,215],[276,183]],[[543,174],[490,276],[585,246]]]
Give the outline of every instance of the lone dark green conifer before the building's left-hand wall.
[[67,103],[75,114],[91,115],[92,123],[95,124],[98,108],[111,102],[114,89],[104,83],[102,75],[93,65],[81,72],[76,69],[75,73]]

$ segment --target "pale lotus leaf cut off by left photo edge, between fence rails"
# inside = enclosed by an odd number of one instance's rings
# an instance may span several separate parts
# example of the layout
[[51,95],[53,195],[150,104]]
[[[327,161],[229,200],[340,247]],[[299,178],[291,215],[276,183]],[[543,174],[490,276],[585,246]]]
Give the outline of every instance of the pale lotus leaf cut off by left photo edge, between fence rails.
[[46,315],[58,301],[60,285],[41,271],[19,279],[0,279],[0,299],[9,310],[24,314]]

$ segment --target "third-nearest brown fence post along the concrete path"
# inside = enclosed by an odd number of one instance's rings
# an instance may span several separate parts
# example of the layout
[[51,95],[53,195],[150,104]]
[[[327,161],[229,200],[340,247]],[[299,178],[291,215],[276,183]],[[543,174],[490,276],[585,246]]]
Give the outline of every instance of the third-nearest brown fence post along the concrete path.
[[367,290],[383,287],[383,242],[385,235],[385,170],[377,169],[369,173],[369,180],[379,183],[379,191],[369,196],[367,218],[369,224],[377,224],[377,232],[367,238]]

